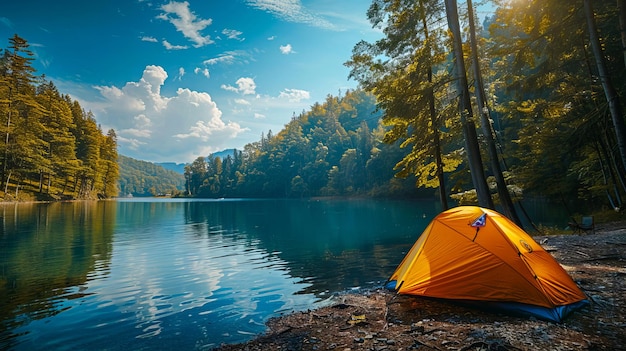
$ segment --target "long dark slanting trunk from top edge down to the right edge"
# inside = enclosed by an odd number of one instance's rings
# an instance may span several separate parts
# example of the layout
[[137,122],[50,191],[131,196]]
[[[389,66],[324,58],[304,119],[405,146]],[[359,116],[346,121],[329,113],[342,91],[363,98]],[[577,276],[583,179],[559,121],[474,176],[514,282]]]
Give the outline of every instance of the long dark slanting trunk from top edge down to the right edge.
[[619,102],[619,96],[615,91],[615,87],[611,82],[608,69],[604,61],[604,54],[600,47],[600,38],[598,37],[598,29],[596,28],[596,21],[593,14],[593,8],[591,7],[590,0],[583,0],[585,8],[585,17],[587,18],[587,26],[589,27],[589,41],[591,44],[591,50],[595,57],[596,66],[598,67],[598,75],[600,76],[600,82],[604,89],[604,95],[609,104],[609,111],[611,112],[611,118],[613,120],[613,127],[615,128],[615,136],[617,140],[617,149],[619,150],[622,159],[622,169],[626,167],[626,124],[624,123],[624,112],[622,111],[622,105]]

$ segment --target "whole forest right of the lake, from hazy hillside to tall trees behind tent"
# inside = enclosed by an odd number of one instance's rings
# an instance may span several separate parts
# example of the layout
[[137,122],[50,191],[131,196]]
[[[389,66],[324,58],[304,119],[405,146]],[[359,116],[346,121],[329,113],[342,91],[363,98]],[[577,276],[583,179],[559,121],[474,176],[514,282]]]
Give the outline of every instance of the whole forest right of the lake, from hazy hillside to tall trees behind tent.
[[471,0],[374,0],[384,36],[345,63],[359,88],[232,156],[199,156],[186,193],[426,195],[510,217],[538,196],[621,212],[624,1],[495,3],[479,26]]

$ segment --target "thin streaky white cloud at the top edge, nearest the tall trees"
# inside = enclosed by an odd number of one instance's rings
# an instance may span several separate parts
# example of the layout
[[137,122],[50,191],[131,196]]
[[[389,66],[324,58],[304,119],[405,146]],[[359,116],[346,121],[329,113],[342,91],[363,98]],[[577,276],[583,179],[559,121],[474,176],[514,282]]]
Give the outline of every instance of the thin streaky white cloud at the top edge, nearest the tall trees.
[[314,27],[337,30],[337,27],[302,6],[300,0],[246,0],[246,3],[259,10],[267,11],[288,22],[304,23]]

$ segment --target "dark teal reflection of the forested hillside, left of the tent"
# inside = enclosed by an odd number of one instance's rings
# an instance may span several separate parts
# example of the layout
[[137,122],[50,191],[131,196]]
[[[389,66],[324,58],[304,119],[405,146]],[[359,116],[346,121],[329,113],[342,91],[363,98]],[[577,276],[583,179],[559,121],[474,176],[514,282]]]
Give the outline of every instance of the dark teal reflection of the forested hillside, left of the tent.
[[276,253],[287,262],[291,276],[311,284],[303,293],[316,295],[382,284],[435,211],[432,202],[373,200],[212,201],[185,206],[187,223],[206,224],[208,235],[207,227],[221,226]]

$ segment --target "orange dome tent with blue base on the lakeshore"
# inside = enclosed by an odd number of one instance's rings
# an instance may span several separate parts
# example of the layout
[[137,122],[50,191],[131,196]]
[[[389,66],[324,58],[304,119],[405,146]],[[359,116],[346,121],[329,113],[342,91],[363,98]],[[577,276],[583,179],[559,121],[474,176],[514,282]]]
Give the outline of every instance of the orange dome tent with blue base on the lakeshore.
[[[561,321],[585,294],[530,235],[496,211],[460,206],[426,227],[389,279],[400,294],[510,303]],[[568,307],[569,306],[569,307]]]

